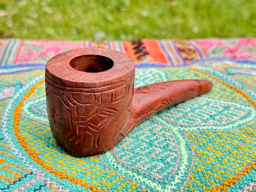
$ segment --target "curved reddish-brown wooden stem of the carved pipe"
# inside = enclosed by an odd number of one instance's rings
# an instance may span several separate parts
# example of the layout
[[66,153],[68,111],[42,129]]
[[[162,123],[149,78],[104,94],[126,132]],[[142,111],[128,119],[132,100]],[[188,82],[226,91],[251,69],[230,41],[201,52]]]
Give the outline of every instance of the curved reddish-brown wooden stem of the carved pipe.
[[124,139],[140,122],[150,115],[212,89],[207,80],[177,80],[154,83],[134,89],[132,114],[128,125],[119,134]]

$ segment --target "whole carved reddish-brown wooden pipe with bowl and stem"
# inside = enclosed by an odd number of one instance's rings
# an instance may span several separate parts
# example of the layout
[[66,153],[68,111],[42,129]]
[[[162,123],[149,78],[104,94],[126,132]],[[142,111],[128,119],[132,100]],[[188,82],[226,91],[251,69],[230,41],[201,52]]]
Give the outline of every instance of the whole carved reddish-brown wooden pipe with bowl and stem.
[[104,48],[73,49],[47,62],[49,123],[67,153],[75,157],[104,153],[151,114],[212,88],[206,80],[134,88],[134,74],[130,57]]

